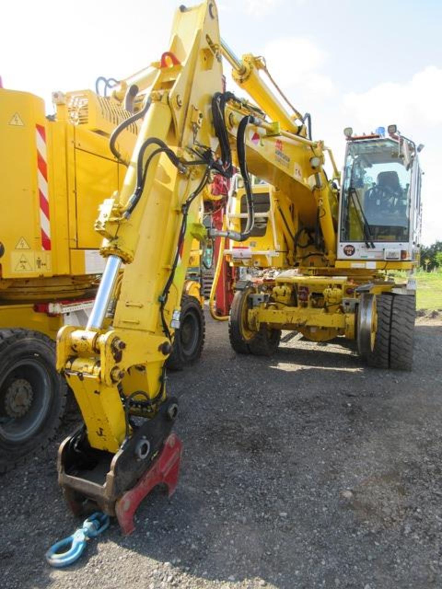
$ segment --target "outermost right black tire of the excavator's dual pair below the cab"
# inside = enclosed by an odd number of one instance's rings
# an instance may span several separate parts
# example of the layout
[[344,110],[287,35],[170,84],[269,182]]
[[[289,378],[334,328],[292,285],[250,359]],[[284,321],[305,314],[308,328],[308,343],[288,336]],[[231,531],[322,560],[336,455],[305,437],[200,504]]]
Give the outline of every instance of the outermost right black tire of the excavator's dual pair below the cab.
[[416,317],[416,298],[410,294],[396,294],[391,311],[390,368],[413,368],[413,336]]

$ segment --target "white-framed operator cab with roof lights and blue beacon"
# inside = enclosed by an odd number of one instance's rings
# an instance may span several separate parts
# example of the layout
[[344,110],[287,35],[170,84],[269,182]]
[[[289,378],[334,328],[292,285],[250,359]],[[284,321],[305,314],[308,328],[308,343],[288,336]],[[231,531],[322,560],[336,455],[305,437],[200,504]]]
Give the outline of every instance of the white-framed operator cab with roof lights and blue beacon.
[[[413,141],[395,125],[352,136],[347,148],[339,213],[339,260],[414,260],[420,243],[421,170]],[[356,267],[356,266],[354,266]],[[360,266],[362,267],[362,266]],[[365,267],[377,267],[366,264]]]

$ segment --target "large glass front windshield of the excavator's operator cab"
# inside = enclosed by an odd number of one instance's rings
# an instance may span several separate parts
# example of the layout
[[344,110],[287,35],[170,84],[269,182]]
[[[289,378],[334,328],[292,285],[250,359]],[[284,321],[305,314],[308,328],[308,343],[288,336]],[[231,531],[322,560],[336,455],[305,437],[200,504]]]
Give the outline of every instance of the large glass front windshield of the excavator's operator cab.
[[341,241],[408,241],[411,170],[390,139],[348,143]]

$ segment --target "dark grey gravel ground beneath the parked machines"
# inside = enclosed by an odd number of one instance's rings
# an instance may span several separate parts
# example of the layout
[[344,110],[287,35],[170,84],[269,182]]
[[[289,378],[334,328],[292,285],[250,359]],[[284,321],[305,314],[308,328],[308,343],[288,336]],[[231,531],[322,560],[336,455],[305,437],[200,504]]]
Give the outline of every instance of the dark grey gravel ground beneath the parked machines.
[[[81,520],[57,487],[57,444],[0,479],[0,585],[442,587],[442,322],[419,319],[413,373],[364,368],[346,344],[298,337],[236,356],[207,320],[202,361],[170,375],[179,487],[143,502],[67,570],[44,552]],[[344,342],[345,344],[345,342]]]

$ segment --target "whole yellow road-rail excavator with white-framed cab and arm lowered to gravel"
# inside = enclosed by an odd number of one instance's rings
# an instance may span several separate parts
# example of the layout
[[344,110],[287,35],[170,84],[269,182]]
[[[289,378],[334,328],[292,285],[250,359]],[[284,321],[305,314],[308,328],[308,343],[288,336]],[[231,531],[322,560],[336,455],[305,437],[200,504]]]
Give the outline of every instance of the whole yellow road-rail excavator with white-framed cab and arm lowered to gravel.
[[[223,91],[223,57],[251,100]],[[331,152],[311,138],[309,116],[288,110],[260,74],[268,74],[262,59],[239,60],[220,38],[213,0],[180,6],[169,47],[133,78],[137,110],[113,132],[117,140],[140,122],[123,186],[105,198],[95,222],[106,265],[87,325],[65,325],[57,336],[57,368],[84,419],[60,446],[58,477],[74,512],[98,505],[117,516],[124,533],[134,529],[134,512],[151,488],[163,483],[173,492],[177,484],[182,442],[171,431],[178,403],[167,395],[166,361],[182,320],[194,239],[225,237],[258,264],[278,259],[285,266],[238,290],[230,318],[238,352],[271,353],[280,330],[293,329],[316,340],[356,338],[364,356],[385,362],[387,326],[394,365],[394,330],[398,322],[411,327],[410,284],[382,271],[416,263],[410,223],[418,209],[418,149],[394,128],[391,137],[360,141],[348,131],[339,190],[335,166],[326,177]],[[232,177],[235,166],[244,183],[242,212],[226,229],[207,230],[199,213],[204,187],[213,174]],[[411,179],[390,195],[382,173],[391,180],[391,171],[401,182]],[[272,187],[261,209],[250,174]],[[275,251],[262,253],[252,242],[271,219],[266,207],[279,216],[282,233]],[[375,221],[387,207],[388,216]]]

